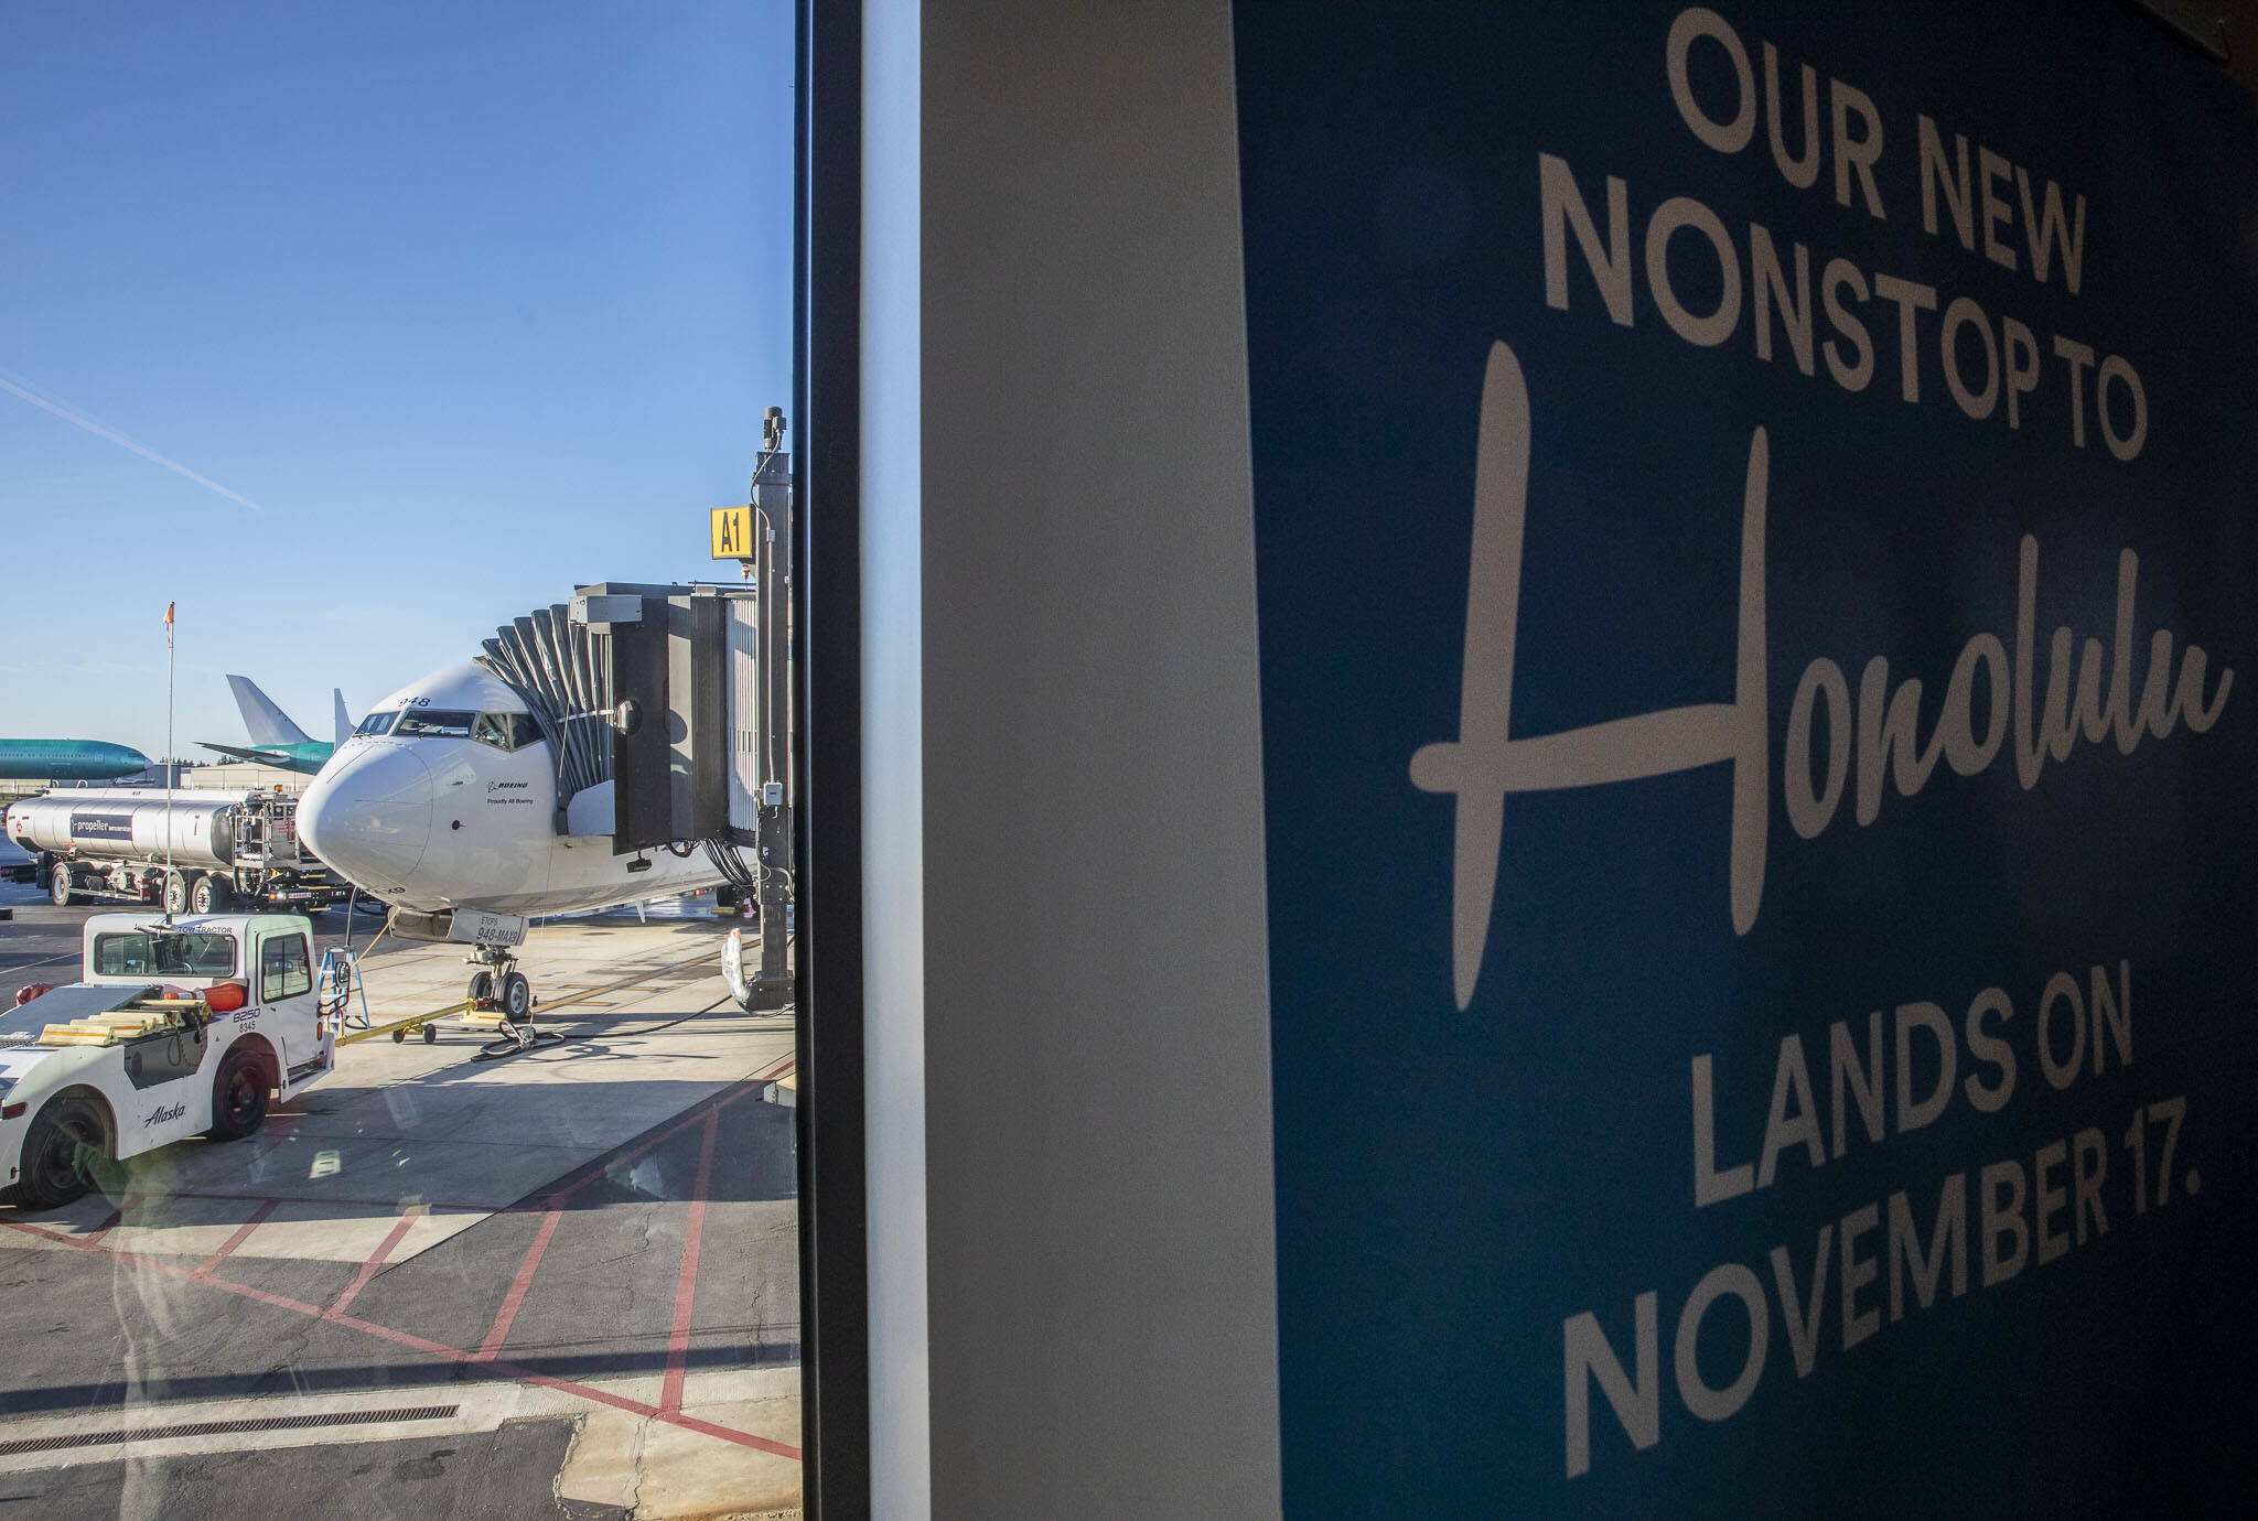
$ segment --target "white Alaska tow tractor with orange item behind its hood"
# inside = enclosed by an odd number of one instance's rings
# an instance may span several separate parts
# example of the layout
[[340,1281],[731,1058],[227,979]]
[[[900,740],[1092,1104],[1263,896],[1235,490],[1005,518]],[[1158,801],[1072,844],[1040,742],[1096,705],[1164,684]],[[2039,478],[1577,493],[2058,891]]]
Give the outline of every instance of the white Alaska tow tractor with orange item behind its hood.
[[95,914],[81,979],[0,1013],[0,1180],[70,1203],[104,1160],[251,1135],[334,1065],[307,918]]

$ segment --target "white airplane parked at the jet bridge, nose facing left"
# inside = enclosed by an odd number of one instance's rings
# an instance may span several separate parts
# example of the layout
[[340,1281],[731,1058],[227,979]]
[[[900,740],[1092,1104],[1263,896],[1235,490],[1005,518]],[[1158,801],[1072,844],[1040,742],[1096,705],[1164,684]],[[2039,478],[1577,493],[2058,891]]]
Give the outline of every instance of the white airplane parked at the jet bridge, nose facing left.
[[[589,715],[578,715],[589,718]],[[513,968],[526,916],[601,909],[729,880],[709,851],[612,853],[612,783],[567,799],[558,833],[549,738],[506,682],[452,666],[384,702],[298,799],[323,862],[393,905],[393,934],[472,946],[470,997],[533,1043],[533,988]]]

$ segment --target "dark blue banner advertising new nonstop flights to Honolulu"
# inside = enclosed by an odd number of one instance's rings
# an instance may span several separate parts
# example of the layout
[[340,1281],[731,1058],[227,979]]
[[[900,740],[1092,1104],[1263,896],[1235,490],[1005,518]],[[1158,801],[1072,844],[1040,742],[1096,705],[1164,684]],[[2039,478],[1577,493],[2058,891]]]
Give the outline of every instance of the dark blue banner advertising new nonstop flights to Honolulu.
[[2258,113],[1233,7],[1287,1514],[2229,1512]]

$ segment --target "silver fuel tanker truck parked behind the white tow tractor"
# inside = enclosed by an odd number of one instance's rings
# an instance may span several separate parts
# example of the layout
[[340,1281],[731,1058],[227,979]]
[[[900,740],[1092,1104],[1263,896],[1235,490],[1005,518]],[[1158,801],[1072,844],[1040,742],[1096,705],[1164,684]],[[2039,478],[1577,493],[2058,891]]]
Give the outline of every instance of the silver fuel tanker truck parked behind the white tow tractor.
[[70,788],[9,803],[7,837],[38,858],[56,907],[318,912],[350,889],[298,844],[298,799],[287,792],[183,788],[167,808],[163,788]]

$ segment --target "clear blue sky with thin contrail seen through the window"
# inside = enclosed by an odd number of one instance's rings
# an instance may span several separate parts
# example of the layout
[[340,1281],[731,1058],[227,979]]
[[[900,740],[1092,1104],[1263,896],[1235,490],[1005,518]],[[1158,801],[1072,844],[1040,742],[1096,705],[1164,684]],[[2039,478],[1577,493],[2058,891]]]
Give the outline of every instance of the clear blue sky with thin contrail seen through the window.
[[0,733],[156,756],[169,600],[201,754],[224,672],[327,738],[576,582],[734,575],[790,65],[784,0],[0,7]]

